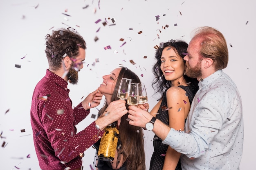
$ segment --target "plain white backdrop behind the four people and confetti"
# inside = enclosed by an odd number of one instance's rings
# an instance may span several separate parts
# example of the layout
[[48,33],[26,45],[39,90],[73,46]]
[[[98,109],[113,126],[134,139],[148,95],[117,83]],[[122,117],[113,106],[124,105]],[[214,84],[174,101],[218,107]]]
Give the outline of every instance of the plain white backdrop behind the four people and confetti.
[[[0,169],[40,169],[31,135],[31,96],[48,68],[45,35],[69,26],[84,37],[88,47],[79,83],[69,85],[73,104],[79,104],[83,96],[99,86],[103,75],[122,64],[146,83],[151,108],[157,98],[151,87],[154,46],[169,39],[189,42],[191,31],[198,26],[221,31],[229,48],[229,64],[224,72],[235,81],[243,99],[245,139],[240,169],[252,169],[256,92],[249,86],[255,85],[256,73],[255,7],[256,1],[252,0],[1,0]],[[105,50],[106,46],[111,49]],[[79,131],[94,121],[91,114],[97,114],[97,109],[91,109],[88,118],[78,124]],[[153,133],[144,133],[148,168]],[[90,170],[94,153],[93,148],[85,152],[85,170]]]

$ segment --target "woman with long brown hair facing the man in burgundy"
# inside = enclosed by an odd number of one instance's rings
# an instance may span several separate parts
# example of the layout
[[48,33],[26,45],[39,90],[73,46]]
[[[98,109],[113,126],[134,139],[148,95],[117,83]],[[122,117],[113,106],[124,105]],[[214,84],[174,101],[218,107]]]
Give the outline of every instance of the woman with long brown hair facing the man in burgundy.
[[[110,74],[102,77],[103,82],[99,91],[105,96],[105,103],[99,111],[101,116],[107,109],[110,102],[119,100],[117,92],[122,78],[129,78],[131,83],[140,83],[139,77],[127,68],[116,68]],[[126,104],[128,109],[128,105]],[[141,127],[132,126],[126,120],[128,115],[124,115],[119,120],[119,144],[113,161],[103,161],[97,159],[98,170],[145,170],[145,152],[143,130]],[[99,148],[99,142],[94,144]]]

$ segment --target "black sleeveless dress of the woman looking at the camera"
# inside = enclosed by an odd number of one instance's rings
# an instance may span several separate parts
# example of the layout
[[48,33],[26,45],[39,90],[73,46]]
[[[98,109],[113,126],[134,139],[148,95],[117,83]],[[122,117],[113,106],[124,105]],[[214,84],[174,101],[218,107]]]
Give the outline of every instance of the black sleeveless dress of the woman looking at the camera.
[[[193,90],[189,86],[179,86],[179,87],[181,87],[182,89],[184,89],[186,91],[186,96],[189,97],[189,102],[191,104],[196,91]],[[163,123],[169,125],[168,110],[166,110],[166,111],[162,110],[162,107],[164,107],[164,106],[167,107],[166,91],[164,92],[163,100],[162,100],[161,106],[158,110],[159,114],[157,114],[156,118],[161,120]],[[164,166],[164,158],[165,158],[164,155],[166,154],[168,145],[162,144],[162,139],[160,139],[159,137],[157,137],[157,135],[155,135],[154,140],[153,140],[153,146],[154,146],[154,152],[153,152],[153,155],[150,160],[150,168],[149,169],[150,170],[162,170],[163,166]],[[180,160],[179,160],[175,170],[181,170]]]

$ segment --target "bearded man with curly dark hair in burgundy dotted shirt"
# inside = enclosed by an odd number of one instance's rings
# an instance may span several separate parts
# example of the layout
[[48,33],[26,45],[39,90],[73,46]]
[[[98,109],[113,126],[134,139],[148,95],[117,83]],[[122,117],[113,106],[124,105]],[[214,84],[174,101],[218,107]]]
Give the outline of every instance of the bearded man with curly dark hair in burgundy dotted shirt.
[[72,107],[67,82],[76,84],[83,68],[86,44],[75,30],[61,28],[46,35],[45,53],[49,68],[34,89],[31,126],[34,145],[42,170],[82,170],[83,152],[97,142],[108,124],[127,113],[124,100],[110,103],[108,114],[76,133],[75,125],[100,104],[96,89],[79,105]]

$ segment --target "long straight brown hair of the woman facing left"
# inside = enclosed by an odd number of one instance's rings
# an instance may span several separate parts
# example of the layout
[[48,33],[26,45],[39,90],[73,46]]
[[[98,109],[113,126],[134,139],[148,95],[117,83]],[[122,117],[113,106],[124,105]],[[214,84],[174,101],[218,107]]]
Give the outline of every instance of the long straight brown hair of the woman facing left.
[[[121,68],[115,89],[112,94],[111,102],[119,100],[117,97],[117,92],[123,77],[132,79],[132,83],[140,83],[139,77],[134,72],[128,68]],[[103,107],[99,110],[99,116],[104,113],[107,107],[108,104],[105,100]],[[127,104],[126,108],[128,109]],[[146,163],[143,130],[141,127],[130,125],[126,120],[128,118],[127,116],[128,113],[121,117],[121,123],[119,126],[119,139],[121,140],[121,148],[118,150],[118,153],[123,154],[124,160],[127,161],[127,170],[145,170]]]

